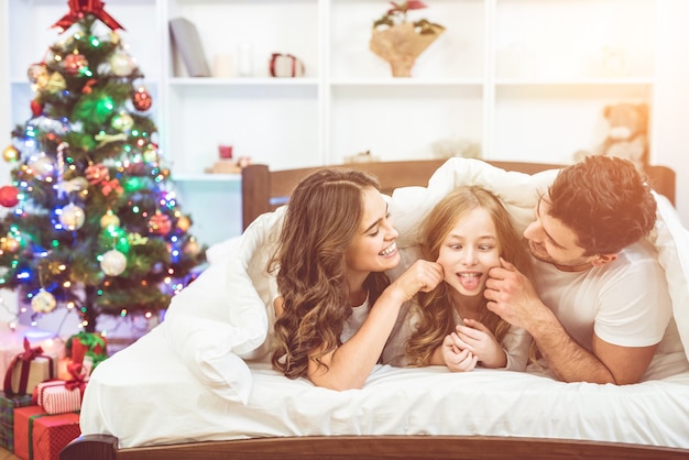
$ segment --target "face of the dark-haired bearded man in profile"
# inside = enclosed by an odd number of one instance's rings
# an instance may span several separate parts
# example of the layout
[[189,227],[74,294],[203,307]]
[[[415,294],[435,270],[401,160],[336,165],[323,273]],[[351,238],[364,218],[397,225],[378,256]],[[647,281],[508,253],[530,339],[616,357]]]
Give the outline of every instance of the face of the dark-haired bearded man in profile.
[[543,196],[535,209],[536,220],[524,230],[532,255],[565,272],[580,272],[591,266],[594,255],[583,255],[577,234],[548,212],[550,202]]

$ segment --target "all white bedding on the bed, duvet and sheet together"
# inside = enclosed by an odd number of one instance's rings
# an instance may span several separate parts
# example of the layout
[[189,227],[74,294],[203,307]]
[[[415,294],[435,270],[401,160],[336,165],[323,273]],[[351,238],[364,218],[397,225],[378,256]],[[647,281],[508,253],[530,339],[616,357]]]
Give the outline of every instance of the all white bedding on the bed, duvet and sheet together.
[[[401,245],[458,184],[500,195],[521,224],[556,172],[504,172],[452,158],[428,187],[396,190],[391,211]],[[689,234],[658,197],[649,240],[658,248],[681,341],[689,343]],[[210,267],[176,296],[165,321],[94,372],[83,434],[120,447],[307,435],[483,435],[590,439],[689,448],[686,353],[656,360],[646,381],[614,386],[562,383],[527,372],[376,366],[362,390],[335,392],[292,381],[262,362],[274,283],[264,274],[282,210],[209,252]]]

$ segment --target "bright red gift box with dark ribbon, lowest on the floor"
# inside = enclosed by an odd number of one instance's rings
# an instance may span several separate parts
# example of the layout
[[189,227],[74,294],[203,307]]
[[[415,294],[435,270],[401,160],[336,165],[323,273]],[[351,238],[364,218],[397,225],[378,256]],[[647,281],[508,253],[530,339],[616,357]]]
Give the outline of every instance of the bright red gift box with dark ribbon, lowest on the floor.
[[59,460],[59,451],[79,437],[79,415],[50,415],[39,406],[14,410],[14,454],[23,460]]

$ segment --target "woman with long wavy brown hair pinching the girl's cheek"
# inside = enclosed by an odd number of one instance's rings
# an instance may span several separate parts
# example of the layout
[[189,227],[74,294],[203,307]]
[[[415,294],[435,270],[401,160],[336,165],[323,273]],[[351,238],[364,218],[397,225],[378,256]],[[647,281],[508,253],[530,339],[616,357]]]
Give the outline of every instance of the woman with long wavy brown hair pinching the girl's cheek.
[[442,281],[417,261],[394,283],[397,231],[378,180],[320,169],[289,198],[270,270],[277,270],[273,366],[333,390],[359,388],[378,363],[400,307]]

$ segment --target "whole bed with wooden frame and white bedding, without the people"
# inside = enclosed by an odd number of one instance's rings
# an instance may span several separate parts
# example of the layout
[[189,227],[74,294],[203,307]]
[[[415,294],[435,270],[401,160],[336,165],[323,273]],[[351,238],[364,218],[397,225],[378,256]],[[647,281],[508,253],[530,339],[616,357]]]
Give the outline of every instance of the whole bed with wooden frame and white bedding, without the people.
[[[535,194],[557,174],[557,165],[469,158],[346,166],[379,176],[401,247],[415,243],[424,211],[459,183],[492,184],[525,224]],[[672,171],[649,172],[659,218],[648,242],[666,269],[680,347],[658,353],[642,383],[378,365],[363,388],[344,392],[288,380],[266,362],[274,286],[262,269],[281,205],[310,171],[245,168],[247,230],[210,248],[209,269],[161,325],[99,364],[81,436],[62,460],[689,457],[689,232],[672,207]]]

